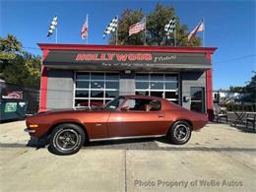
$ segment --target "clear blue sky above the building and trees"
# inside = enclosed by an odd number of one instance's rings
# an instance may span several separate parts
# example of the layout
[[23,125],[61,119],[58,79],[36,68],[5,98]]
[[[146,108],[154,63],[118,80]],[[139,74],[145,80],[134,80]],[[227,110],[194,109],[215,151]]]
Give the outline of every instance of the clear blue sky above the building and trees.
[[[0,36],[12,33],[33,54],[36,43],[55,42],[47,37],[54,15],[58,16],[59,43],[86,43],[80,36],[89,15],[90,44],[107,44],[102,33],[109,21],[125,9],[142,9],[147,15],[158,1],[135,0],[0,0]],[[218,47],[213,56],[214,90],[244,86],[256,71],[255,0],[160,1],[172,5],[181,24],[192,31],[204,18],[205,46]],[[202,32],[198,32],[202,37]]]

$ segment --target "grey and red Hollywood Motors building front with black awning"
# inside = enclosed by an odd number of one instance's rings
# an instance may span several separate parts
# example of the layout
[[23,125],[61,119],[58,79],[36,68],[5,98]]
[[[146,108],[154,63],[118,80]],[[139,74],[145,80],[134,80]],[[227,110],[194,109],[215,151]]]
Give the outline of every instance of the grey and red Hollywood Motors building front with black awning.
[[213,113],[215,47],[38,44],[40,110],[100,106],[115,96],[160,96]]

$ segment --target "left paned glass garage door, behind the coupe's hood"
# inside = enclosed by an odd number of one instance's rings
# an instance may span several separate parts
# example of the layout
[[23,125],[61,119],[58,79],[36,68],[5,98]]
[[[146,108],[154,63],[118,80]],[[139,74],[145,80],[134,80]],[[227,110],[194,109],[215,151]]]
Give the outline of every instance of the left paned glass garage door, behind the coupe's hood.
[[119,96],[118,73],[76,73],[75,106],[101,106]]

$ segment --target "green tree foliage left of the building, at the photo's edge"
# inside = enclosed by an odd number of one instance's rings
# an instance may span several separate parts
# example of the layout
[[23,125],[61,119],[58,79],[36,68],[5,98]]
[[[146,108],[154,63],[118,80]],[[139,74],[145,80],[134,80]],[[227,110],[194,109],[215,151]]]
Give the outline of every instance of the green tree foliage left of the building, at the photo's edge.
[[40,57],[22,49],[22,43],[8,34],[0,37],[0,78],[8,83],[39,87]]

